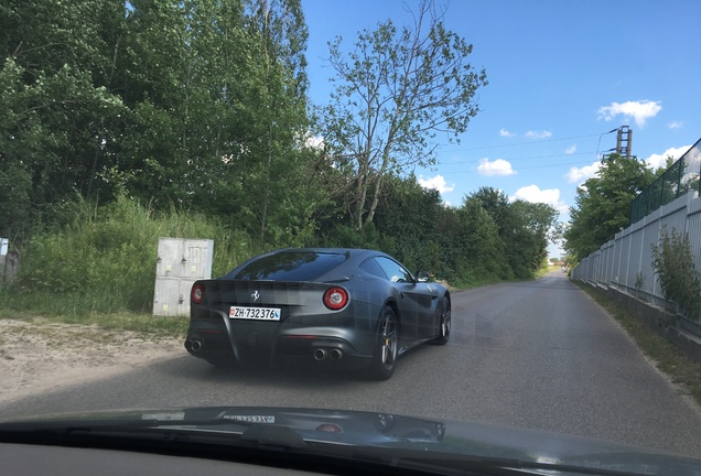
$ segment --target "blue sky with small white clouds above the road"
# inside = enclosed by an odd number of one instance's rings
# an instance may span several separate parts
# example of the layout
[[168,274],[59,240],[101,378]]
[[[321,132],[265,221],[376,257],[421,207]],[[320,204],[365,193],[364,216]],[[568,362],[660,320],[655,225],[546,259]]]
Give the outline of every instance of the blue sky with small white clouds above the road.
[[[327,42],[349,48],[387,19],[410,24],[418,0],[302,0],[309,26],[310,96],[328,102]],[[481,186],[561,210],[616,145],[655,165],[701,138],[701,1],[453,0],[447,29],[474,46],[471,63],[489,84],[461,144],[444,144],[438,166],[417,169],[425,186],[460,205]],[[551,249],[557,255],[557,249]]]

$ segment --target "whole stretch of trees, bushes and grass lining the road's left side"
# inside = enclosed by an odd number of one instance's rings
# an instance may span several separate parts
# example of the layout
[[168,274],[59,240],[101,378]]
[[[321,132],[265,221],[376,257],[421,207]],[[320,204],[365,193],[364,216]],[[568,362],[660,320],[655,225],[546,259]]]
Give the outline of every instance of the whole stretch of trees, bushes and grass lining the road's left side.
[[334,41],[335,89],[314,105],[299,0],[1,6],[0,236],[21,263],[0,315],[139,326],[159,237],[213,239],[214,275],[333,246],[455,288],[533,278],[553,207],[490,187],[447,205],[413,175],[487,85],[445,12],[414,13]]

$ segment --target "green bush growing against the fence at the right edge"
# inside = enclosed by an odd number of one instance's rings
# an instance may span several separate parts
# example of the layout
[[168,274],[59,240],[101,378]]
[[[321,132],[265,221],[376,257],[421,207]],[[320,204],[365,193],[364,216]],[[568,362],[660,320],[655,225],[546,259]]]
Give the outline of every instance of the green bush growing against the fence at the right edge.
[[662,229],[660,242],[653,245],[653,267],[666,300],[676,302],[688,317],[701,314],[701,279],[693,264],[689,236]]

